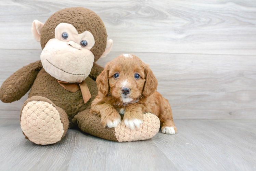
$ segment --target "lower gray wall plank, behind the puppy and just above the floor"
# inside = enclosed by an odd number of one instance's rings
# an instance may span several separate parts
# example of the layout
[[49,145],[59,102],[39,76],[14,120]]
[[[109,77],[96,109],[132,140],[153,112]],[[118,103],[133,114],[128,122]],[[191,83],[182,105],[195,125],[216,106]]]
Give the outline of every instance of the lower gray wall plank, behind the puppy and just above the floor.
[[[39,60],[40,52],[0,50],[0,85],[17,69]],[[111,52],[97,63],[104,67],[120,54]],[[255,56],[133,54],[151,66],[157,90],[169,100],[174,119],[256,119]],[[18,118],[26,98],[0,102],[0,118]]]

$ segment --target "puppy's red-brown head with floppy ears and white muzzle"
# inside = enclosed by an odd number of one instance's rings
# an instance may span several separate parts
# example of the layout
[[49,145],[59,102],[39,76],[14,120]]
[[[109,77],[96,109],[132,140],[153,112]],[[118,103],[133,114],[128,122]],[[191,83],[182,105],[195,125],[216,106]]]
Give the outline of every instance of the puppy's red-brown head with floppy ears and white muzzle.
[[123,103],[148,97],[156,91],[157,80],[139,57],[124,54],[107,63],[97,77],[97,86],[101,93],[111,94]]

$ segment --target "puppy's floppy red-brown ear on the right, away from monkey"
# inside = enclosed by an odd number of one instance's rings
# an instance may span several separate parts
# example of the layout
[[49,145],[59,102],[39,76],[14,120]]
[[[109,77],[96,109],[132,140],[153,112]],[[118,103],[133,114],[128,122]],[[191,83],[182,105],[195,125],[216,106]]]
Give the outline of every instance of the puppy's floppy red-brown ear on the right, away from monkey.
[[148,97],[156,91],[158,82],[152,70],[149,68],[149,65],[144,64],[144,70],[146,81],[144,84],[143,95]]

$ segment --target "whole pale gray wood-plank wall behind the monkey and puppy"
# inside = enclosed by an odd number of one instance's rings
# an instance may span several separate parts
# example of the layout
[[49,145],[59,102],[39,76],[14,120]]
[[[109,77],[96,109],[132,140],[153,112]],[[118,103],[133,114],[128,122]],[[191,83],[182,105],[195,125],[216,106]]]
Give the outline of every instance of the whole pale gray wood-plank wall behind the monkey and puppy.
[[[1,1],[0,84],[40,60],[34,19],[82,6],[105,23],[112,52],[97,63],[132,53],[149,64],[175,119],[255,119],[255,1]],[[18,118],[27,95],[0,102],[0,118]]]

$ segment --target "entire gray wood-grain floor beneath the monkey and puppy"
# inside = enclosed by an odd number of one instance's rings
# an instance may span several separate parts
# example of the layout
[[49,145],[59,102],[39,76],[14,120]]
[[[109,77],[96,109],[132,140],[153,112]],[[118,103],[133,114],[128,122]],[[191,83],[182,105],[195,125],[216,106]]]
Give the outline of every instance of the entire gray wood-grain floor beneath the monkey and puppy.
[[1,170],[234,170],[256,167],[255,120],[177,120],[178,133],[117,143],[69,129],[56,145],[24,138],[18,119],[0,120]]

